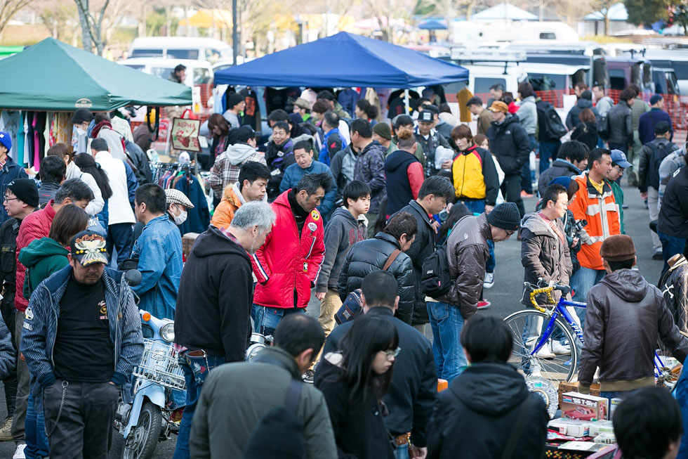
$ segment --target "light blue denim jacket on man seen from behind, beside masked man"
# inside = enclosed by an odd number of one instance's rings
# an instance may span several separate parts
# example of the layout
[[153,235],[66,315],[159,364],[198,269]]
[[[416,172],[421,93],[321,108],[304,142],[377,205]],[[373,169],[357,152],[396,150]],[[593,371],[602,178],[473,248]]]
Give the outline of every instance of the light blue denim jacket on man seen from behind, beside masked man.
[[182,275],[182,237],[168,214],[157,216],[143,227],[131,251],[138,258],[142,280],[132,287],[140,309],[157,318],[174,319],[179,278]]

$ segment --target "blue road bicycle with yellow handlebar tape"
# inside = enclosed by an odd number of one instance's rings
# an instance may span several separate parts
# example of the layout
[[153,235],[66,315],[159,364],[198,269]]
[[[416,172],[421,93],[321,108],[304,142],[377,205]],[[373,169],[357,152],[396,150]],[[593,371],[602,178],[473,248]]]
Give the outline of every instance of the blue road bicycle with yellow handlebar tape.
[[[567,300],[571,287],[566,285],[524,285],[535,310],[517,311],[504,319],[513,335],[509,363],[524,375],[544,377],[555,386],[562,381],[571,382],[577,377],[583,346],[583,330],[574,308],[585,308],[586,304]],[[562,292],[559,302],[552,297],[554,290]],[[545,295],[548,304],[538,304],[538,295]],[[673,387],[680,366],[666,367],[655,352],[654,367],[657,384]]]

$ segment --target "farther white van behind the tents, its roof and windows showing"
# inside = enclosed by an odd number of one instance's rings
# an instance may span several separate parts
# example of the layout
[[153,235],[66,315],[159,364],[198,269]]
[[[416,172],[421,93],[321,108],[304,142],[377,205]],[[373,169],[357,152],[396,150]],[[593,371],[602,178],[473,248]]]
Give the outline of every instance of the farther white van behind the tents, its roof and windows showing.
[[213,64],[232,58],[232,46],[211,38],[139,37],[131,42],[128,57],[206,60]]

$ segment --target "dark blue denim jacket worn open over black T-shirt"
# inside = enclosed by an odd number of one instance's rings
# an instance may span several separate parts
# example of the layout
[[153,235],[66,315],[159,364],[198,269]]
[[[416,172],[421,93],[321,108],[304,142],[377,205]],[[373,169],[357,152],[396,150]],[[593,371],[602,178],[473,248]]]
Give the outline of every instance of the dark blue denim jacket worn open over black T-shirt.
[[[112,382],[116,384],[124,384],[143,354],[141,318],[122,274],[110,268],[105,268],[102,273],[105,304],[110,317],[110,341],[114,347]],[[25,312],[20,349],[32,380],[38,380],[41,387],[55,382],[53,347],[58,335],[60,299],[71,276],[72,266],[65,266],[41,282],[31,295]]]

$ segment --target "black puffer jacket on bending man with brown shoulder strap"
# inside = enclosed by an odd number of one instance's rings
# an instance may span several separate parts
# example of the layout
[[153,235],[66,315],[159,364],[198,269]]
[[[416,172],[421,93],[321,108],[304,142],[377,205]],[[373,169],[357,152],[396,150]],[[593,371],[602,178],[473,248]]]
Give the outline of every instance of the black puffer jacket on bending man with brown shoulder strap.
[[[399,241],[387,233],[377,233],[374,238],[356,243],[346,254],[342,271],[339,273],[337,290],[342,301],[346,295],[363,285],[363,278],[383,269],[387,259],[395,249],[400,249]],[[397,317],[411,323],[416,303],[416,274],[414,264],[405,253],[400,253],[392,263],[390,271],[399,284],[399,309]]]

